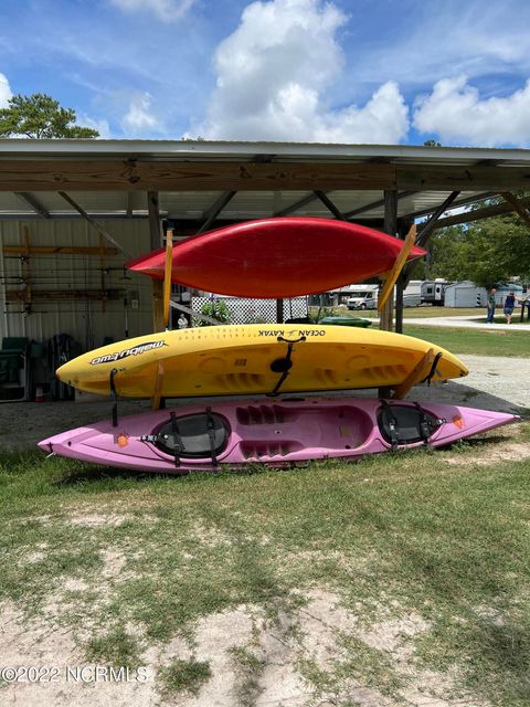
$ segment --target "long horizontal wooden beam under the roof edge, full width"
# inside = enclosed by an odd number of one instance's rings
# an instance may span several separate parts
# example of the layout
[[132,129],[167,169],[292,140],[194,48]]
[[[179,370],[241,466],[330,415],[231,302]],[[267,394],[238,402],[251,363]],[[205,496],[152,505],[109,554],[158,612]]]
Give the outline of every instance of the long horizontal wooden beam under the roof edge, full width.
[[0,159],[0,191],[529,191],[530,166]]

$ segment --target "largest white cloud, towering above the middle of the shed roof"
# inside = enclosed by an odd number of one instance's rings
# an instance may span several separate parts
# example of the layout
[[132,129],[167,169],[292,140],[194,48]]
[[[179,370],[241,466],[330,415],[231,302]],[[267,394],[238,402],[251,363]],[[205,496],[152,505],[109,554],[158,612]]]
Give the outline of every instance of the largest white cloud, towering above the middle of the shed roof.
[[[216,88],[193,134],[211,139],[399,143],[409,112],[394,82],[363,107],[331,109],[325,93],[344,65],[347,18],[321,0],[257,1],[215,53]],[[190,133],[191,135],[191,133]]]

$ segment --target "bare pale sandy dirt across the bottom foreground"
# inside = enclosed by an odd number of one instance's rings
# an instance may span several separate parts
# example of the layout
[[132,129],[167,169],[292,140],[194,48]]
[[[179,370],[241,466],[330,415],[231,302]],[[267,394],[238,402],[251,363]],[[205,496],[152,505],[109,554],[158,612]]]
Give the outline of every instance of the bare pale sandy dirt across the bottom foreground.
[[[118,556],[107,557],[110,564]],[[142,654],[141,682],[129,671],[125,682],[95,678],[68,629],[40,618],[24,622],[11,604],[0,613],[1,664],[3,666],[56,666],[57,679],[47,683],[8,683],[0,688],[2,707],[311,707],[315,705],[362,705],[363,707],[489,707],[484,700],[456,694],[457,673],[418,669],[414,664],[414,639],[431,630],[417,613],[402,613],[398,606],[381,606],[380,618],[360,624],[340,598],[312,589],[306,605],[279,610],[271,616],[256,605],[242,604],[231,611],[202,618],[193,635],[176,636],[162,647],[150,646]],[[56,611],[61,611],[57,602]],[[477,608],[477,611],[483,611]],[[125,626],[141,637],[136,626]],[[392,671],[405,682],[395,698],[361,684],[351,675],[336,677],[336,668],[349,657],[343,639],[361,641],[391,661]],[[157,672],[172,659],[206,662],[212,677],[197,696],[182,693],[160,697]],[[251,658],[251,659],[247,659]],[[305,677],[304,662],[311,661],[326,684]],[[84,667],[85,682],[68,679],[67,668]],[[107,666],[102,666],[102,669]],[[125,675],[124,675],[125,677]]]

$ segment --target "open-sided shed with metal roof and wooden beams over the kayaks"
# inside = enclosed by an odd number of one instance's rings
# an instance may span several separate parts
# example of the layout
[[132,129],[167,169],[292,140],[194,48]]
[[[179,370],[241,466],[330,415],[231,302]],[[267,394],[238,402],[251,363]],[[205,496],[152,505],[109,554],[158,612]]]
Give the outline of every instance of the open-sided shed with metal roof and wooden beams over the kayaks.
[[[123,264],[160,246],[165,221],[178,239],[284,215],[356,221],[404,238],[422,219],[424,245],[436,228],[512,210],[530,223],[530,199],[515,196],[529,184],[522,149],[3,139],[1,334],[39,340],[82,324],[87,347],[146,334],[153,321],[160,328],[160,285]],[[496,194],[504,204],[463,212]],[[444,218],[449,208],[460,211]],[[396,287],[398,331],[405,278]],[[393,313],[390,303],[381,328],[394,327]]]

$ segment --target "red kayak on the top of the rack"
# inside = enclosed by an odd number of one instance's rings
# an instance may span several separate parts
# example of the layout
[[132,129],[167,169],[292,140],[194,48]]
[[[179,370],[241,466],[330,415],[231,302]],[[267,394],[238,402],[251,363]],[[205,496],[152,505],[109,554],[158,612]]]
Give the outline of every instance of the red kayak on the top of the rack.
[[[403,241],[356,223],[315,218],[261,219],[173,245],[171,279],[221,295],[296,297],[359,283],[389,271]],[[407,260],[425,251],[413,247]],[[163,279],[166,251],[127,263]]]

